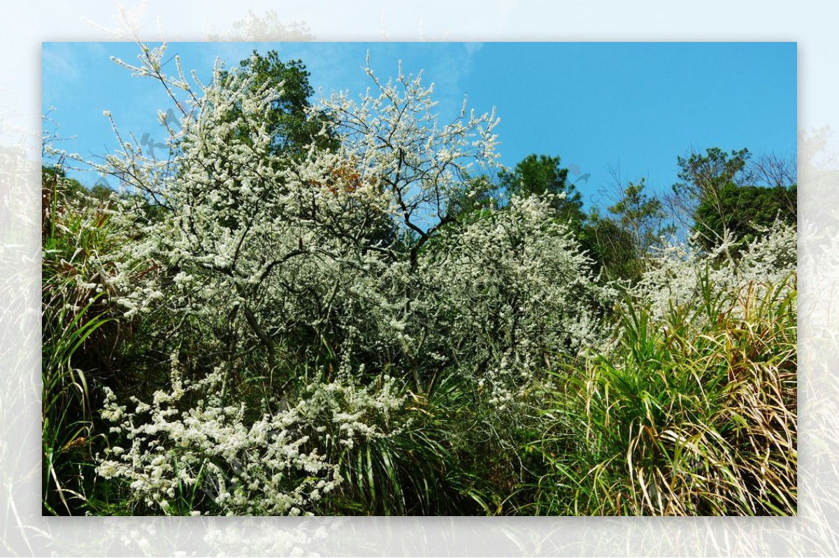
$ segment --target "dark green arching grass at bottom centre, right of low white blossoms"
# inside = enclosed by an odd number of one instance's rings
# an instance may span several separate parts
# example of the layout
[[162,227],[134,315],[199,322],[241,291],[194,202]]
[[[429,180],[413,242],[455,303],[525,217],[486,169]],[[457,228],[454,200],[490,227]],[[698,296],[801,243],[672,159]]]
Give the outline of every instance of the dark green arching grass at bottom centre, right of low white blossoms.
[[[424,395],[409,395],[398,434],[341,448],[344,483],[328,513],[492,514],[498,451],[482,434],[487,417],[463,375],[450,373]],[[498,447],[496,446],[496,449]]]

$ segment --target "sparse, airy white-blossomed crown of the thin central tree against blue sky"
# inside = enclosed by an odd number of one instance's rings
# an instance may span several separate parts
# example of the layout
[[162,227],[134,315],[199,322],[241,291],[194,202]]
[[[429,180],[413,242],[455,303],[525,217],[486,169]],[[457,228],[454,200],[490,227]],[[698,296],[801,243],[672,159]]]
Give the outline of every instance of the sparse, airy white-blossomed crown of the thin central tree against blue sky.
[[[369,65],[369,60],[368,60]],[[341,125],[345,146],[364,176],[376,180],[390,214],[406,230],[433,230],[446,214],[449,194],[461,189],[472,168],[498,165],[499,119],[492,113],[461,113],[440,126],[432,98],[434,84],[419,75],[384,83],[369,67],[373,94],[357,102],[335,93],[324,109]]]

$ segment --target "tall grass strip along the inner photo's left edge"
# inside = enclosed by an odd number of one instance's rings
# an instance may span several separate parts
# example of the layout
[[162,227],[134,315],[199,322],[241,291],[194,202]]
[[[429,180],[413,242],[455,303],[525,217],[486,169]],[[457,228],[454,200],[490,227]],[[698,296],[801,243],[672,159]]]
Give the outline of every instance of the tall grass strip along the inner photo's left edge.
[[100,251],[112,243],[107,213],[57,173],[44,176],[42,212],[42,504],[75,514],[93,477],[91,354],[109,343]]

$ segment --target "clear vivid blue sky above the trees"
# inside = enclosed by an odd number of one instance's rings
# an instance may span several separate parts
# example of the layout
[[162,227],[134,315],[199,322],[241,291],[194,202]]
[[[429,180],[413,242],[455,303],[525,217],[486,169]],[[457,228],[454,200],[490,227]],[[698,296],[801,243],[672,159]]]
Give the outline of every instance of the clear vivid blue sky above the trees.
[[[464,95],[478,112],[496,107],[501,162],[560,156],[588,206],[611,202],[612,170],[669,189],[676,158],[691,149],[796,152],[795,43],[174,43],[164,60],[179,54],[207,80],[216,57],[232,67],[253,49],[302,59],[315,96],[363,93],[368,50],[383,78],[401,59],[404,73],[423,70],[435,83],[442,120],[456,116]],[[43,44],[43,111],[55,107],[60,135],[75,136],[61,148],[86,157],[115,148],[106,109],[123,134],[163,141],[162,89],[110,60],[133,62],[138,52],[130,43]],[[164,70],[174,73],[175,62]],[[88,185],[98,178],[71,174]]]

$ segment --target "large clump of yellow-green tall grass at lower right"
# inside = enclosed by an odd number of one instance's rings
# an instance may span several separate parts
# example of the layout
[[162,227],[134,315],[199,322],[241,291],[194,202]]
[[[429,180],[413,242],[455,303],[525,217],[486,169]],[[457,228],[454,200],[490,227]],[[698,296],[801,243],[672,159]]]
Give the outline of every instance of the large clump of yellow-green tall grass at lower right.
[[539,514],[796,511],[795,274],[660,321],[629,304],[618,345],[556,377]]

